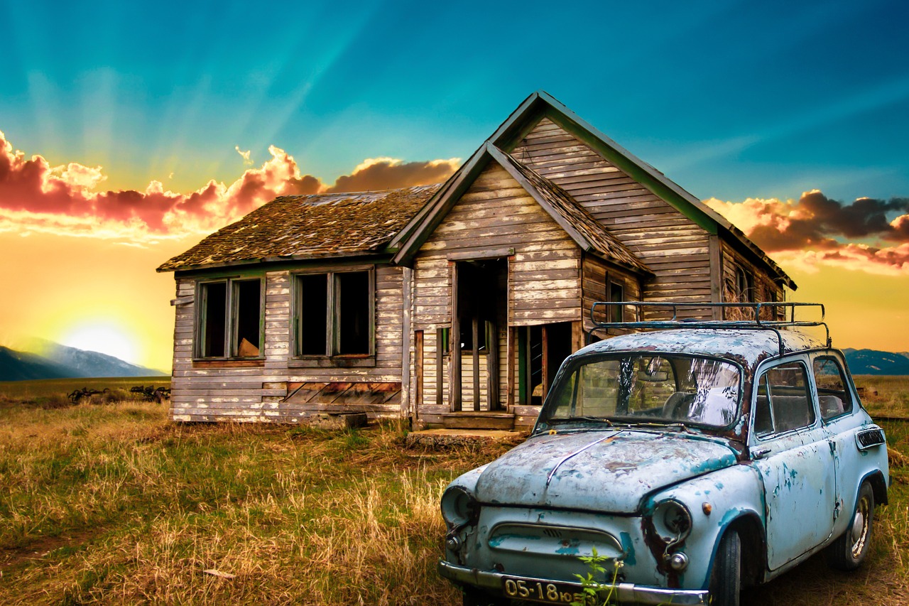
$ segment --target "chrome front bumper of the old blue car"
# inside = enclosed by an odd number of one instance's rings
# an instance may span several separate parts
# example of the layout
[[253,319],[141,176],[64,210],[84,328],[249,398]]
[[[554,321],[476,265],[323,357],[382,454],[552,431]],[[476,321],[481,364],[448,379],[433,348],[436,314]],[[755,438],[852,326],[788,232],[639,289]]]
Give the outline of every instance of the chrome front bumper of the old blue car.
[[[479,571],[463,566],[455,566],[446,561],[439,561],[439,574],[445,579],[454,581],[463,585],[472,585],[480,589],[491,591],[494,594],[502,594],[504,577],[510,576],[500,572]],[[521,575],[522,579],[526,579]],[[581,591],[581,583],[570,581],[556,581],[554,579],[532,579],[532,581],[541,582],[558,582],[562,585],[573,585]],[[608,591],[605,590],[605,591]],[[615,585],[613,597],[619,602],[631,602],[636,604],[682,604],[684,606],[704,606],[708,603],[708,592],[706,590],[674,590],[664,589],[663,587],[648,587],[645,585],[635,585],[634,583],[619,583]]]

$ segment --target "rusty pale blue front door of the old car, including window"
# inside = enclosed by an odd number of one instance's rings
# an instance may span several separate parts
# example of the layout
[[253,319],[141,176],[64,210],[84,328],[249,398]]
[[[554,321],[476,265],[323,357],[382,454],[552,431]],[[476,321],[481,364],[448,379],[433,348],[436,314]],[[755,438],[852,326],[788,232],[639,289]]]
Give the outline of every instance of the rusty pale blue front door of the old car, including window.
[[751,452],[764,481],[772,571],[824,542],[833,526],[834,456],[809,385],[804,359],[765,367],[755,382]]

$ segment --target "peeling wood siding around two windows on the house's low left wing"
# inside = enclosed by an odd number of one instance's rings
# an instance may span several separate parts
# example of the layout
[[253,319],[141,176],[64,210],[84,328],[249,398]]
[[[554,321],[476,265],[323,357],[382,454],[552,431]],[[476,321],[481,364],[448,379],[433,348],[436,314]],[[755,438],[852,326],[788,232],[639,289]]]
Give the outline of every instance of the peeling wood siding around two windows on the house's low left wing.
[[[375,366],[315,367],[293,357],[293,277],[289,270],[265,273],[265,342],[262,366],[194,364],[195,302],[176,308],[171,415],[175,420],[296,421],[318,412],[318,403],[283,402],[288,383],[402,382],[403,270],[375,269]],[[195,279],[178,278],[177,298],[195,296]],[[371,416],[398,416],[399,403],[369,405]]]

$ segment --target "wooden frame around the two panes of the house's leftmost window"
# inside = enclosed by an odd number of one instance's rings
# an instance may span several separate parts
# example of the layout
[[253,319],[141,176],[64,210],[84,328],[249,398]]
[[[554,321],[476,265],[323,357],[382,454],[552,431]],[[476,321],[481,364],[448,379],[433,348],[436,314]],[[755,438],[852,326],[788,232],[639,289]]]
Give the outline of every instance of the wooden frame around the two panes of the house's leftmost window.
[[[239,296],[236,294],[239,282],[259,283],[259,355],[239,356],[236,354],[236,331],[239,322]],[[207,313],[206,289],[212,284],[225,285],[225,354],[223,356],[205,355],[205,319]],[[265,359],[265,279],[262,276],[230,276],[225,278],[200,278],[195,280],[195,327],[193,339],[194,361],[215,360],[261,360]]]

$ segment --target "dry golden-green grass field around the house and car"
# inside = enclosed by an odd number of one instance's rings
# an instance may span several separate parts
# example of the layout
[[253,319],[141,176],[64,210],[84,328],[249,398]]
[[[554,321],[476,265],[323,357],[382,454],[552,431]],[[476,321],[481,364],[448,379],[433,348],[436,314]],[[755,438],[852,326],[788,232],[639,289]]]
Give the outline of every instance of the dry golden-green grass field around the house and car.
[[[869,409],[909,417],[909,381],[872,379]],[[0,395],[0,603],[460,603],[435,574],[438,498],[505,447],[408,450],[395,425],[176,424],[154,403],[49,395]],[[868,565],[814,558],[744,604],[909,604],[909,423],[883,424],[894,485]]]

